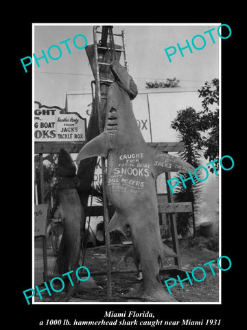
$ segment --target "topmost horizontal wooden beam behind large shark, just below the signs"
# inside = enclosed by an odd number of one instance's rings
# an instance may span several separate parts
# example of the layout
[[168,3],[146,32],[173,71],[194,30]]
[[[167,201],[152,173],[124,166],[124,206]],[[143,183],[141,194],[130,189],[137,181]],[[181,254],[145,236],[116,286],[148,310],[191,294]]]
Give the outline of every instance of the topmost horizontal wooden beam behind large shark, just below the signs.
[[[86,142],[34,142],[34,153],[59,153],[64,148],[68,153],[79,153]],[[148,142],[148,146],[163,152],[183,151],[183,142]]]

